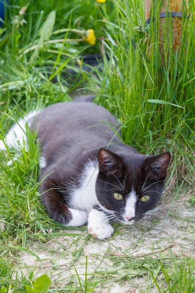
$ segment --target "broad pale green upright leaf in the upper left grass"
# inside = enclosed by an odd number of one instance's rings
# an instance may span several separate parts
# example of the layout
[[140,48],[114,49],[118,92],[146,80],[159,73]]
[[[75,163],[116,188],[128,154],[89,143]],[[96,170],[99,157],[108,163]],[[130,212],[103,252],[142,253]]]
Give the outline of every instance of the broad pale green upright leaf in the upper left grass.
[[54,28],[55,21],[56,21],[56,11],[54,10],[50,12],[50,14],[48,15],[47,19],[45,20],[40,30],[39,42],[37,44],[37,47],[35,48],[33,55],[31,56],[29,64],[32,64],[34,59],[38,56],[39,50],[43,48],[44,41],[49,40],[49,37],[51,36],[51,33]]

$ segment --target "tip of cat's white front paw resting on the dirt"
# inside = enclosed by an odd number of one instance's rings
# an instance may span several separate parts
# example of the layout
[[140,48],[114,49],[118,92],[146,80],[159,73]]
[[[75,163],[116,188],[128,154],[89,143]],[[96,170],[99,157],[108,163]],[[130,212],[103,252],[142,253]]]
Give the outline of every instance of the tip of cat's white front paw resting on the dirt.
[[111,237],[114,229],[109,224],[94,222],[88,224],[88,231],[98,239],[106,239]]

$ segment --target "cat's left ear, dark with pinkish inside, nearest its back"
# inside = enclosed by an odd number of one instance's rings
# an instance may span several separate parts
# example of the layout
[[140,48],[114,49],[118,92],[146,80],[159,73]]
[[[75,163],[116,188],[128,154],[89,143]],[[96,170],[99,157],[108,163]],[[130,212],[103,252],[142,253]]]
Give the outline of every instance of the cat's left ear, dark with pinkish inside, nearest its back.
[[98,163],[100,173],[106,176],[121,176],[122,161],[117,154],[102,148],[98,152]]

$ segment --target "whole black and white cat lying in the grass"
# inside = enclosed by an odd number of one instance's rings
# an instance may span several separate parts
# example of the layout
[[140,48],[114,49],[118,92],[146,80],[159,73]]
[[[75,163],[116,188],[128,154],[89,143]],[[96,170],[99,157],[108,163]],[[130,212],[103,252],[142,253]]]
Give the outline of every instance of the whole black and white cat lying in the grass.
[[[66,226],[88,222],[98,239],[112,222],[131,225],[160,200],[170,153],[146,156],[121,142],[117,119],[87,102],[51,105],[25,118],[41,146],[40,192],[48,214]],[[8,147],[22,143],[25,122],[7,134]],[[117,132],[117,134],[116,134]],[[0,142],[0,149],[5,146]]]

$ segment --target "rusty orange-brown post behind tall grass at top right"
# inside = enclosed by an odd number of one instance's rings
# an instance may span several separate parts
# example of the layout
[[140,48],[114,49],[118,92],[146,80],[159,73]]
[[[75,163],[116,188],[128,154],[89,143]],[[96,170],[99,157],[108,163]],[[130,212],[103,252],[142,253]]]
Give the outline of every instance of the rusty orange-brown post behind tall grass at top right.
[[[158,0],[162,3],[160,9],[160,26],[159,26],[159,51],[162,58],[162,63],[164,63],[164,38],[163,38],[163,29],[166,31],[166,37],[168,43],[170,44],[170,25],[169,21],[166,23],[166,16],[172,17],[172,47],[173,51],[179,53],[181,39],[182,39],[182,13],[186,12],[188,7],[188,0]],[[151,6],[152,2],[154,4],[155,0],[145,0],[145,19],[149,23],[153,21],[149,19],[151,17]],[[185,5],[185,6],[184,6]],[[186,16],[187,17],[187,16]],[[150,58],[150,50],[149,50]]]

